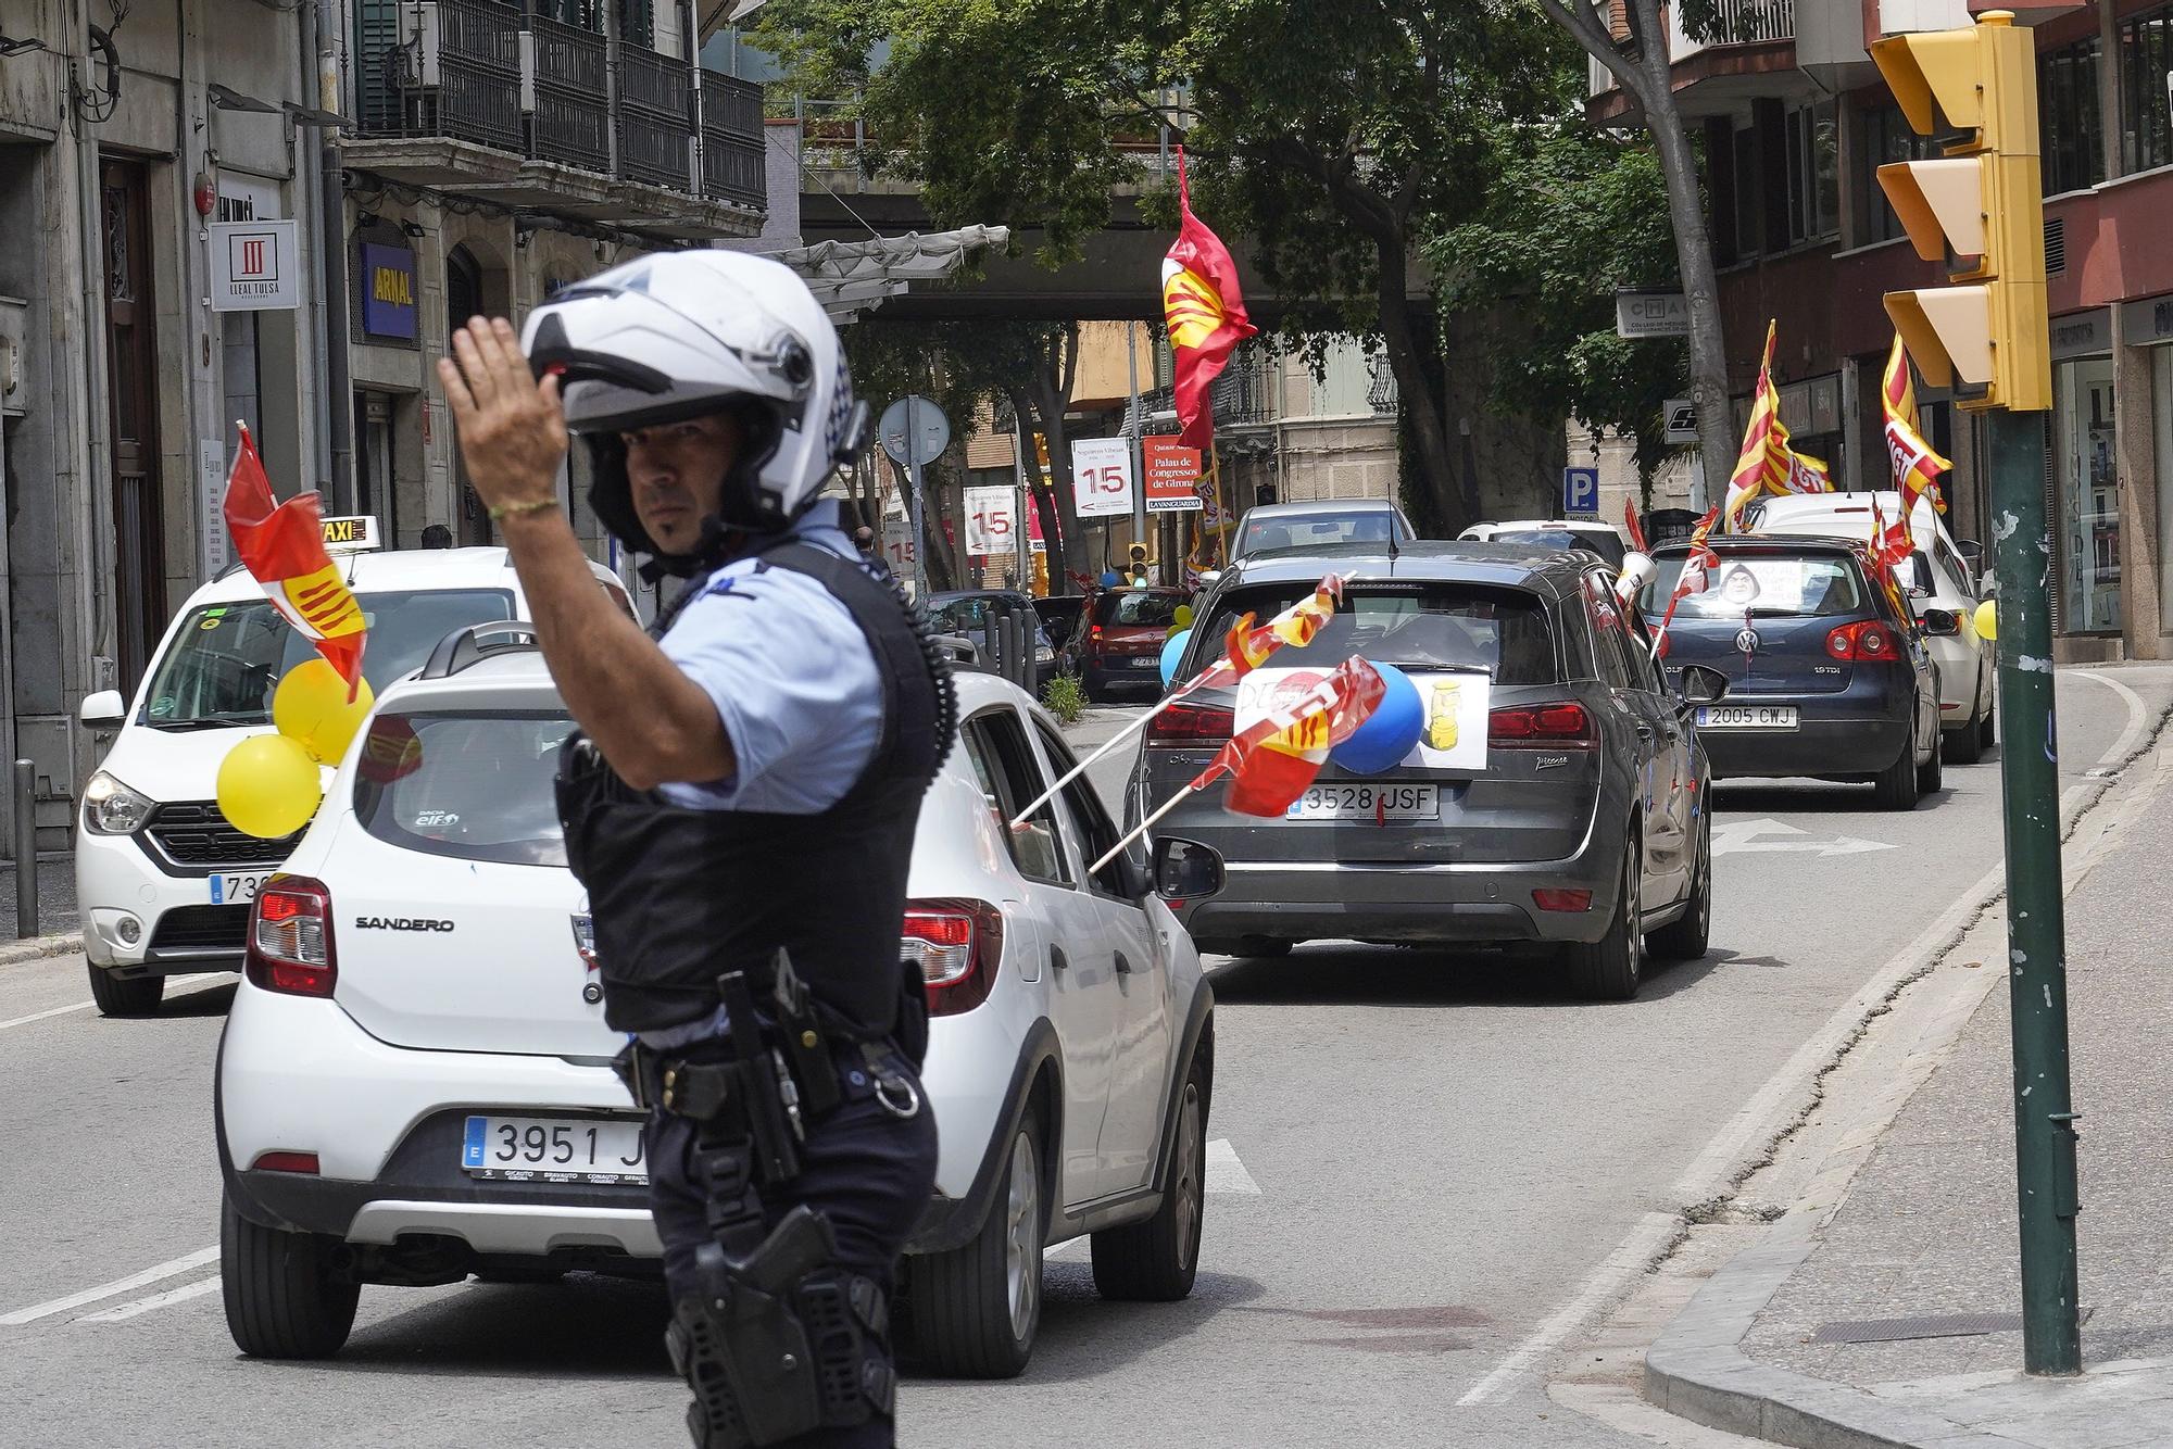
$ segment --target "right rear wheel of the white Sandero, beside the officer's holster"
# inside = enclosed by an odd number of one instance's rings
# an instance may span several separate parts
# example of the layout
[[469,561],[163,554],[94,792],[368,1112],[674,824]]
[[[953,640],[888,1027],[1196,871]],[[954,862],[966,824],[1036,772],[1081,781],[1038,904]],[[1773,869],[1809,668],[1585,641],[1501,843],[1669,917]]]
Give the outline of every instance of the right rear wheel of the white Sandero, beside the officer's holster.
[[1004,1180],[980,1232],[947,1253],[906,1258],[915,1358],[932,1373],[1008,1379],[1026,1369],[1041,1330],[1041,1127],[1032,1110],[1004,1149]]

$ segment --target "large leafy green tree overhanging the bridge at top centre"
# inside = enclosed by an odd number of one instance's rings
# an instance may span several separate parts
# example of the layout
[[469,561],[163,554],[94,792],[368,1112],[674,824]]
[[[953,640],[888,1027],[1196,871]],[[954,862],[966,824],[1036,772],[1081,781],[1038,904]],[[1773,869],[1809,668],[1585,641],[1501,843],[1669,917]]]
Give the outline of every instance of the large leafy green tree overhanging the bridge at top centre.
[[[1428,513],[1462,524],[1412,259],[1491,185],[1491,126],[1545,113],[1549,37],[1536,0],[771,0],[758,39],[804,93],[858,98],[939,224],[1008,224],[1045,265],[1147,180],[1121,143],[1173,126],[1284,341],[1378,339]],[[1167,196],[1147,219],[1173,219]]]

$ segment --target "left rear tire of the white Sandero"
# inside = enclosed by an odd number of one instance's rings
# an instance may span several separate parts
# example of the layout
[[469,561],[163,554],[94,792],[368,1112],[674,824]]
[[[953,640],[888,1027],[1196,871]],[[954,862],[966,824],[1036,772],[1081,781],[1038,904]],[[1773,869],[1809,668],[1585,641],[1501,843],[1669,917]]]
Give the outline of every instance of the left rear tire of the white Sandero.
[[219,1204],[226,1332],[250,1358],[330,1358],[348,1343],[361,1286],[332,1269],[339,1238],[252,1223]]

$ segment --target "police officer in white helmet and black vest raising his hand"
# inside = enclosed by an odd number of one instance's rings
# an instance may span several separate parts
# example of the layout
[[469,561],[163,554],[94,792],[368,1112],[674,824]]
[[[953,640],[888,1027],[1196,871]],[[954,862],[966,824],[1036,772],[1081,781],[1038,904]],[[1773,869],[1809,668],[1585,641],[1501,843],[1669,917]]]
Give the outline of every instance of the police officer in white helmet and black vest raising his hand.
[[[580,730],[561,756],[604,1019],[652,1108],[650,1199],[695,1445],[889,1445],[889,1299],[934,1186],[926,995],[897,956],[921,795],[956,732],[941,650],[854,550],[832,469],[867,406],[789,269],[615,267],[474,319],[439,363]],[[652,637],[595,587],[556,474],[652,582]]]

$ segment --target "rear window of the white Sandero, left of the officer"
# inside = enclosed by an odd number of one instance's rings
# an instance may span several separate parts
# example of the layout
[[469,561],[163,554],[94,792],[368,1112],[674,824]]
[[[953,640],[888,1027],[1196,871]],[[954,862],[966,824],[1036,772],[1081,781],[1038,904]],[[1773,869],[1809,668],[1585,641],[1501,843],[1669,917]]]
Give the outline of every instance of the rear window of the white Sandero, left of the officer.
[[565,715],[380,713],[354,769],[354,817],[402,849],[565,865],[558,745]]

